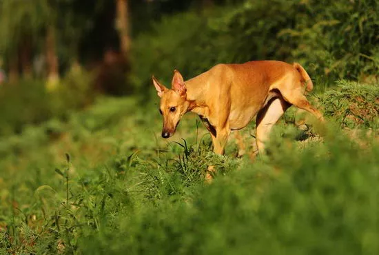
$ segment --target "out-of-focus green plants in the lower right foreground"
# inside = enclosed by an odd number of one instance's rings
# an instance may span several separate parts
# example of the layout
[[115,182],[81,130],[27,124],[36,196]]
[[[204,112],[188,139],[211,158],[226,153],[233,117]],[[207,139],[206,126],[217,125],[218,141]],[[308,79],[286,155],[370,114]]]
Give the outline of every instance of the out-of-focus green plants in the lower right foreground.
[[[287,139],[212,185],[154,196],[153,205],[117,218],[116,232],[104,227],[79,246],[88,254],[375,254],[378,145],[359,153],[329,132],[325,145],[299,151]],[[155,194],[183,185],[175,174],[156,175]]]

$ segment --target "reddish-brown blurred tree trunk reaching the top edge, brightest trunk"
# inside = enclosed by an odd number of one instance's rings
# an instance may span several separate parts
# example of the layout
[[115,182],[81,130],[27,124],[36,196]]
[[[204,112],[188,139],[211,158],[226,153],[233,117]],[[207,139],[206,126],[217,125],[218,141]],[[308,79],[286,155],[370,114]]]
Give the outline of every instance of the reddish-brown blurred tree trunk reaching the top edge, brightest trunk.
[[128,59],[130,51],[129,8],[127,0],[116,0],[116,28],[120,37],[120,49],[123,57]]

